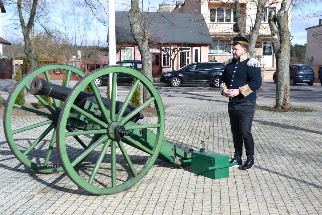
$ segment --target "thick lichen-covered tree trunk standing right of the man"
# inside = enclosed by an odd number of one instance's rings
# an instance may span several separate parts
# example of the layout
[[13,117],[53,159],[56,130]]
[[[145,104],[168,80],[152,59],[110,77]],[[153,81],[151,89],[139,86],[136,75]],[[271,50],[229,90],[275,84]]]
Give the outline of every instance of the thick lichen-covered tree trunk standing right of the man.
[[292,0],[283,0],[281,8],[275,14],[270,12],[268,22],[276,56],[276,108],[289,108],[289,59],[290,32],[288,29],[289,7]]

